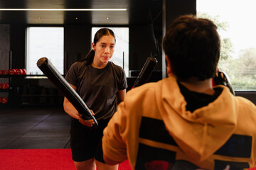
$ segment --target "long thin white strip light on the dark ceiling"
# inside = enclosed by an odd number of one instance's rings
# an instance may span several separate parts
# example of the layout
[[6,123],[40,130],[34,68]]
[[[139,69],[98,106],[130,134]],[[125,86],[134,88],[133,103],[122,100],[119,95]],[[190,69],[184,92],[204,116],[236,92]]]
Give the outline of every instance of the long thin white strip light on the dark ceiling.
[[0,11],[127,11],[126,8],[0,8]]

